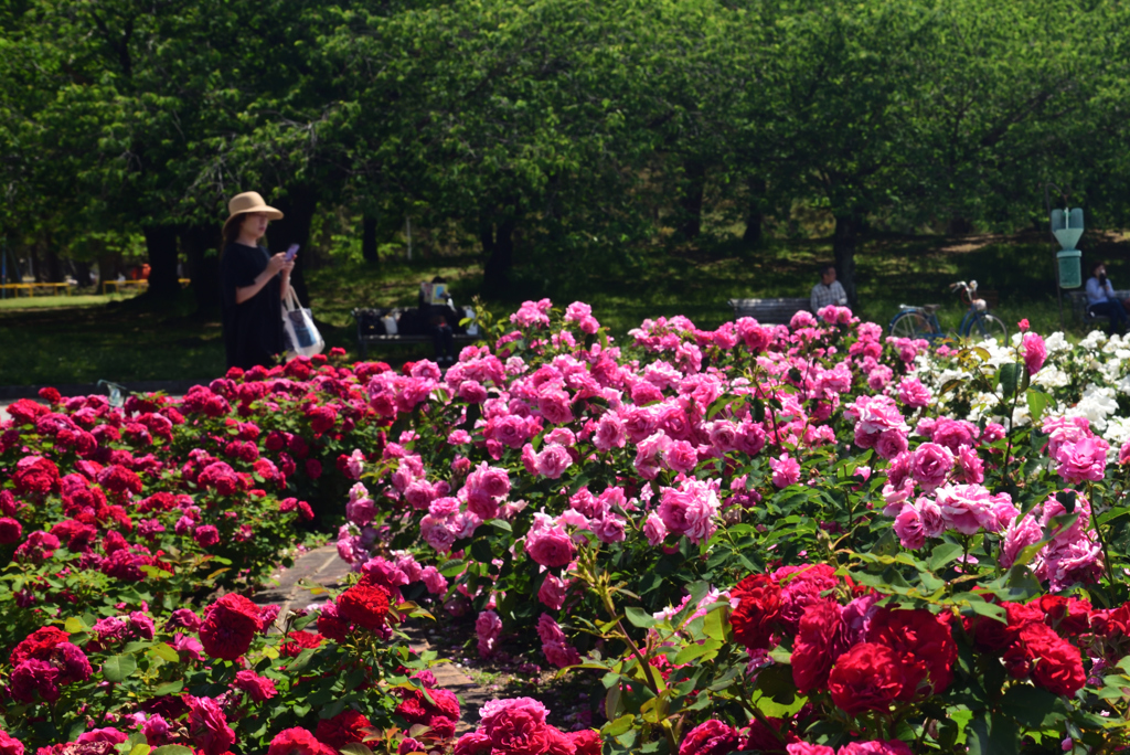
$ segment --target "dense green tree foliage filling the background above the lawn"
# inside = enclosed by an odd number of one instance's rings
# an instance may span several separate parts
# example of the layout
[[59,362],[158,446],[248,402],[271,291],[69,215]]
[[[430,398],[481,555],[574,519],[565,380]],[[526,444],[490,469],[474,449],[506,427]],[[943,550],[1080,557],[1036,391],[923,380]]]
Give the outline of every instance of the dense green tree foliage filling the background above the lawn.
[[642,264],[723,227],[753,245],[805,206],[834,222],[852,292],[867,233],[1038,224],[1049,181],[1125,224],[1128,17],[1103,0],[8,0],[0,234],[80,261],[144,235],[164,295],[179,254],[212,275],[225,202],[254,189],[287,212],[272,244],[344,208],[376,261],[408,215],[478,249],[499,294],[518,264]]

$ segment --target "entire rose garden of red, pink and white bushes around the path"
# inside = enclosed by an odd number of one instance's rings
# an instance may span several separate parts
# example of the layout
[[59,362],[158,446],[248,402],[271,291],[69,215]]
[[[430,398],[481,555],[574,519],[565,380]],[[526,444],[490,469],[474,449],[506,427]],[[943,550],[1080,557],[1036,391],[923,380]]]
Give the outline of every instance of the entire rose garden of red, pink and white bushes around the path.
[[[931,350],[841,307],[624,346],[581,303],[483,324],[445,374],[297,362],[180,403],[19,405],[3,728],[209,755],[1130,744],[1130,344],[1022,323]],[[348,590],[286,617],[240,598],[334,489]],[[417,604],[473,619],[486,658],[590,675],[599,736],[516,698],[455,741],[394,631]]]

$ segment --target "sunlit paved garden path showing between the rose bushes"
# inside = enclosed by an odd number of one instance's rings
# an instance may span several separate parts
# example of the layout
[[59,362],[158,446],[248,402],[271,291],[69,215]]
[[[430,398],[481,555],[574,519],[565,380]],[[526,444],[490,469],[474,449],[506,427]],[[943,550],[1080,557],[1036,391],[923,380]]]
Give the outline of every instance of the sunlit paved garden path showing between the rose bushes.
[[[278,604],[279,613],[285,615],[288,609],[299,610],[314,602],[323,602],[327,599],[324,593],[314,595],[308,587],[299,584],[305,581],[307,585],[319,585],[322,588],[340,588],[349,573],[349,565],[338,557],[337,547],[323,545],[314,548],[295,559],[290,569],[280,569],[272,574],[272,580],[264,584],[264,589],[255,596],[255,602]],[[411,637],[411,646],[417,652],[431,649],[427,641],[427,631],[421,626],[423,622],[410,622],[403,626],[403,631]],[[479,721],[479,708],[481,708],[494,695],[475,684],[466,674],[460,671],[453,663],[440,663],[432,669],[436,684],[444,689],[459,695],[461,721],[457,734],[462,734],[473,729]]]

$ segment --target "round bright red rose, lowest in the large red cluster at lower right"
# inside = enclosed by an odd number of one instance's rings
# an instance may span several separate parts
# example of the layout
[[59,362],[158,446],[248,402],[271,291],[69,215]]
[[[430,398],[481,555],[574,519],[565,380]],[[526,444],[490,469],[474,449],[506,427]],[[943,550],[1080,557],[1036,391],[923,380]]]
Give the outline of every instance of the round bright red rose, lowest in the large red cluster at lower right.
[[828,692],[849,715],[886,712],[903,692],[902,658],[886,645],[861,642],[836,660]]

